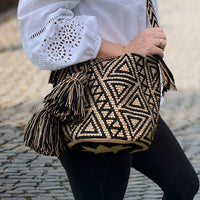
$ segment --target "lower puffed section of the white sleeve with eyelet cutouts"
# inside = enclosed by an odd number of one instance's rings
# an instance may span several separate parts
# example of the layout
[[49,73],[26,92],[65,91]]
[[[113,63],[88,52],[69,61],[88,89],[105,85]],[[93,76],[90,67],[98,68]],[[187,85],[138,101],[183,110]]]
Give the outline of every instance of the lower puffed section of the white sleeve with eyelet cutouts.
[[38,69],[62,69],[96,57],[101,38],[95,27],[95,17],[51,17],[26,37],[24,49]]

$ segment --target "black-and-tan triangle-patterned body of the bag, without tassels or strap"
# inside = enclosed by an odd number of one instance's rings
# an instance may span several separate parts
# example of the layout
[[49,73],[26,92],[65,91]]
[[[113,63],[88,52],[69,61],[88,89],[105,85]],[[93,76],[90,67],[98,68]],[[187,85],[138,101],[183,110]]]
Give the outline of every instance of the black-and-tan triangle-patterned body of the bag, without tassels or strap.
[[[86,116],[79,124],[63,126],[68,146],[95,154],[147,149],[160,108],[157,60],[132,53],[88,61],[87,68]],[[78,64],[67,73],[84,69],[85,63]]]

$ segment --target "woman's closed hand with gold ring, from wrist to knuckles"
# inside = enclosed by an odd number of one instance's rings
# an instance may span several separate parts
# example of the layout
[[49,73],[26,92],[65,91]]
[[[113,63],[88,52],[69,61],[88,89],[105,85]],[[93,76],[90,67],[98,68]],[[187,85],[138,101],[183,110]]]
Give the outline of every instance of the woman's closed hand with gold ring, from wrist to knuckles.
[[124,46],[123,53],[137,53],[143,56],[164,56],[166,46],[166,35],[160,28],[144,29],[128,45]]

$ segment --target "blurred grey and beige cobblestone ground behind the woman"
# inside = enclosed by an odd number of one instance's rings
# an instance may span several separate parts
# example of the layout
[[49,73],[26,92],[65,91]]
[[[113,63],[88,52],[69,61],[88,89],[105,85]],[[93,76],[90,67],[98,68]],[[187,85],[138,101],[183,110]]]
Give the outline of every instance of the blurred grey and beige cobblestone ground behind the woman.
[[[166,62],[179,91],[167,94],[161,113],[200,176],[200,39],[193,19],[200,18],[200,2],[171,2],[159,1],[159,8],[168,36]],[[73,200],[58,159],[23,145],[25,125],[50,86],[48,72],[35,69],[23,52],[15,14],[11,10],[0,16],[0,200]],[[161,196],[155,183],[131,170],[126,200]]]

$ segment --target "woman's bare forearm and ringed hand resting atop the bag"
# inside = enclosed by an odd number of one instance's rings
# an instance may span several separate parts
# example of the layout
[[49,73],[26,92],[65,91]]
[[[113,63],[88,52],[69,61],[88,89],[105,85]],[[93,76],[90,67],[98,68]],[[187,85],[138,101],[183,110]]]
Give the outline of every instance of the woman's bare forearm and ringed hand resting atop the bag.
[[137,53],[143,56],[164,56],[166,36],[160,28],[144,29],[128,45],[122,46],[102,39],[97,58],[120,56],[125,53]]

